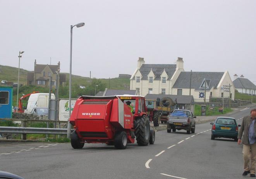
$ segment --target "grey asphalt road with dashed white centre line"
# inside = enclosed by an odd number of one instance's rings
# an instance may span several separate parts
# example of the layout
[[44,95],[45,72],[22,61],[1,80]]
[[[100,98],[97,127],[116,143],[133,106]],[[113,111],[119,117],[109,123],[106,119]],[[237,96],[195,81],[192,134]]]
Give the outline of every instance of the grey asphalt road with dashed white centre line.
[[[230,117],[242,122],[251,108]],[[116,150],[105,144],[0,143],[0,170],[26,179],[213,179],[242,178],[242,145],[232,139],[211,140],[211,125],[186,131],[156,132],[155,145],[130,144]]]

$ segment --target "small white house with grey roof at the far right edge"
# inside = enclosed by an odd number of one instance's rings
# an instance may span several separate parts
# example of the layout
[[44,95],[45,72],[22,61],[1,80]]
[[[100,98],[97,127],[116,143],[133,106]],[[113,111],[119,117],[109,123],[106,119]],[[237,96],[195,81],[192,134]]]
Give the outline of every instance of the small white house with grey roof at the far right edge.
[[[237,76],[236,74],[234,76]],[[241,75],[240,78],[236,78],[233,81],[233,84],[235,86],[235,89],[239,93],[245,93],[248,95],[255,95],[256,94],[256,85],[253,84],[249,79],[244,78],[243,75]]]

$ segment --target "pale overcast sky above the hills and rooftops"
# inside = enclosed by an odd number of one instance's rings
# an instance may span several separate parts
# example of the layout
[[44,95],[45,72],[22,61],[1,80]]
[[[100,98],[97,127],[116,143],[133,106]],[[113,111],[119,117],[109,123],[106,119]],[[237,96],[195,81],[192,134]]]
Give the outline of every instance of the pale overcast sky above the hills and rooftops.
[[[132,74],[138,57],[186,71],[225,71],[256,81],[256,0],[0,0],[0,64],[33,71],[60,61],[72,74]],[[256,83],[254,83],[256,84]]]

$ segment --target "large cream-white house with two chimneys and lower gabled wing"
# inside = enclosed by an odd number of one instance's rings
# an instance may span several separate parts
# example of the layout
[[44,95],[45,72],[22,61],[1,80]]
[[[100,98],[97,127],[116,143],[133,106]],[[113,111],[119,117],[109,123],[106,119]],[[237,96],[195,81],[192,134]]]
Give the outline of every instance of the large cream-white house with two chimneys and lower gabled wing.
[[206,90],[206,101],[209,101],[210,97],[229,98],[229,95],[234,100],[235,88],[228,71],[185,72],[183,64],[180,57],[176,64],[145,64],[144,59],[139,57],[137,69],[130,79],[130,89],[138,90],[143,96],[191,94],[195,102],[204,101]]

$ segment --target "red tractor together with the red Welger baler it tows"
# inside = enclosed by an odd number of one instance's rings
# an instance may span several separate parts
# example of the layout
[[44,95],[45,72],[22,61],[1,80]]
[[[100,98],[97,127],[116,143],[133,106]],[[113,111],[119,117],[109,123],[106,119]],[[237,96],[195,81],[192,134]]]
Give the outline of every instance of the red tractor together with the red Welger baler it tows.
[[125,149],[128,143],[154,144],[143,96],[81,96],[69,122],[74,126],[71,145],[81,149],[84,143],[105,143]]

